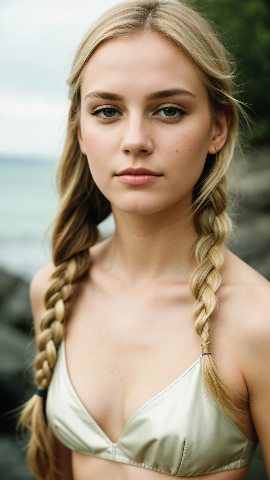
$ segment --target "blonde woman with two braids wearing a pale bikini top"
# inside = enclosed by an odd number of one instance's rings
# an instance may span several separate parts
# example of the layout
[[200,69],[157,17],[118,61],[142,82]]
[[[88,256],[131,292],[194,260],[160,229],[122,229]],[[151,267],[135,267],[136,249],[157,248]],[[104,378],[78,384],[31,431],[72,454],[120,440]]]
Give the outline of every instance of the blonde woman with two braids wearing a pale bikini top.
[[77,50],[53,264],[30,288],[38,479],[242,480],[258,440],[270,475],[270,285],[224,245],[230,65],[174,0],[116,5]]

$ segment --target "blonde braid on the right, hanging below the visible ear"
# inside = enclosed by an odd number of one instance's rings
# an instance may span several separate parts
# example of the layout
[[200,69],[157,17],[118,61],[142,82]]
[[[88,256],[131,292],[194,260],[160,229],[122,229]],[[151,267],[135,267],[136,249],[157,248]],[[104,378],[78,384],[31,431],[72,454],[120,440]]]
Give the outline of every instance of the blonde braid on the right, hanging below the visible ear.
[[[194,249],[198,265],[190,277],[190,288],[195,298],[195,330],[202,340],[202,353],[210,351],[211,316],[217,304],[215,293],[221,286],[220,270],[224,261],[221,244],[232,229],[231,220],[225,212],[228,202],[225,184],[226,178],[223,175],[209,202],[194,218],[200,237]],[[241,410],[236,408],[227,396],[225,385],[211,355],[202,357],[202,375],[206,393],[218,402],[221,413],[227,413],[233,420],[237,420]]]

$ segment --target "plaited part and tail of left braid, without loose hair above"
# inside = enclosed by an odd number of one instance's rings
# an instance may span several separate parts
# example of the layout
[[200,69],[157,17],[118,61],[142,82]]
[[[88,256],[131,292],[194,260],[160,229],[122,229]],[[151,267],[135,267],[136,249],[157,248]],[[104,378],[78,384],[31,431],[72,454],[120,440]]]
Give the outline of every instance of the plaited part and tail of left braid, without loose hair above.
[[[56,347],[64,335],[66,302],[72,295],[73,282],[86,272],[90,264],[88,251],[83,252],[82,256],[85,262],[73,257],[56,268],[45,294],[46,311],[40,322],[35,360],[35,381],[42,390],[48,387],[52,377],[57,358]],[[78,269],[78,266],[81,268]],[[21,421],[32,432],[28,459],[34,475],[38,480],[51,480],[56,468],[43,413],[43,398],[37,395],[30,398],[22,412]]]

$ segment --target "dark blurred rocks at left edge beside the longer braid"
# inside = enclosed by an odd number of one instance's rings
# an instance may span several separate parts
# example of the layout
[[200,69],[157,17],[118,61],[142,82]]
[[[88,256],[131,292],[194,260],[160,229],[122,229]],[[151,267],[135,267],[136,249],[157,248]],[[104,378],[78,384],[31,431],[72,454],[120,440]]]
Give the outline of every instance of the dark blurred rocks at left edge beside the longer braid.
[[35,356],[29,285],[0,270],[0,478],[30,480],[23,447],[16,434],[19,408],[31,396]]

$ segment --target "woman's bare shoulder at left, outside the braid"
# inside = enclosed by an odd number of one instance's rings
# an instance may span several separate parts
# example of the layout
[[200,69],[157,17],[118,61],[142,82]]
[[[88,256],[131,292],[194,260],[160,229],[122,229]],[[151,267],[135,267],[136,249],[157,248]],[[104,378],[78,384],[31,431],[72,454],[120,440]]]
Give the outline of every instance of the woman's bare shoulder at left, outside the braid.
[[38,270],[36,275],[33,276],[30,283],[29,294],[36,335],[40,331],[40,320],[45,310],[44,295],[47,289],[49,278],[54,272],[54,270],[55,266],[53,263],[45,265],[44,267],[40,268],[40,270]]

